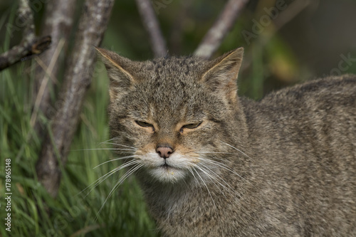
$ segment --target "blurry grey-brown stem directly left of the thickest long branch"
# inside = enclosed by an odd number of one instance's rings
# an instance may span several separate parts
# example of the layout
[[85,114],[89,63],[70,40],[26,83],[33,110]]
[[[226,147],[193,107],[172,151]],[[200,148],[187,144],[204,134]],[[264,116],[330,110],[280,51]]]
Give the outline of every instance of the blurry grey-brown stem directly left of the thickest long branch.
[[[76,3],[76,0],[52,0],[46,4],[46,15],[42,34],[52,36],[52,46],[48,48],[46,52],[43,52],[39,58],[36,58],[36,62],[39,66],[36,68],[34,93],[35,95],[41,95],[41,97],[36,97],[36,112],[41,110],[43,115],[47,118],[51,117],[50,91],[52,91],[54,86],[51,81],[58,76],[58,68],[61,68],[63,64],[63,59],[58,58],[58,53],[66,53],[67,51],[67,42],[73,26]],[[44,6],[44,4],[42,4],[42,6]],[[64,43],[63,47],[59,47],[60,42]],[[60,48],[61,51],[58,52],[58,48]],[[53,56],[56,56],[56,58],[53,58]],[[48,68],[51,70],[48,70]],[[50,80],[49,83],[48,80]],[[31,120],[31,122],[33,125],[35,121]],[[36,120],[34,130],[42,137],[43,129],[39,120]]]

